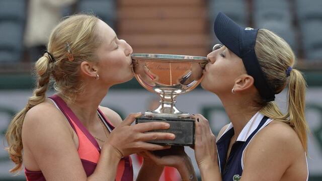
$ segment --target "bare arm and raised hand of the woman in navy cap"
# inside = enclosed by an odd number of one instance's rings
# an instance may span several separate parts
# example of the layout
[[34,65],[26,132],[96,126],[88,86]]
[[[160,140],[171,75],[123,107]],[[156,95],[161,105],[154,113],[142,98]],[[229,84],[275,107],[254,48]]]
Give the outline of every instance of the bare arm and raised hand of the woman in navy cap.
[[[195,118],[199,120],[196,121],[195,156],[202,180],[220,181],[215,137],[202,115]],[[271,123],[258,132],[244,152],[244,170],[240,180],[280,180],[292,160],[296,160],[295,152],[303,154],[297,139],[295,132],[286,124],[277,126]]]

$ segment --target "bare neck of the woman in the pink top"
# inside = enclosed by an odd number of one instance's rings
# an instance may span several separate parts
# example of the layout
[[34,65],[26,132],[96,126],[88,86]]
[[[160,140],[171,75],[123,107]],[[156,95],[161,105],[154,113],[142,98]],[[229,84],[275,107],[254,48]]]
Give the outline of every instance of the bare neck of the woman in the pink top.
[[87,88],[84,92],[75,95],[73,102],[58,94],[85,127],[88,127],[91,122],[97,121],[97,109],[109,90],[109,88],[102,88],[98,85],[89,85]]

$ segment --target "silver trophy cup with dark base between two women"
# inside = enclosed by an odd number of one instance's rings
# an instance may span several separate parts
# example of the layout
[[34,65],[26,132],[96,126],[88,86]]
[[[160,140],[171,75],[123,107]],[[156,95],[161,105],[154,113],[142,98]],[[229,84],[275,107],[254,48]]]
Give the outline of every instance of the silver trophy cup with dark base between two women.
[[168,145],[194,145],[195,120],[191,115],[176,108],[177,96],[194,89],[202,79],[202,70],[209,62],[206,57],[132,54],[133,71],[137,81],[148,91],[160,96],[156,110],[146,111],[136,124],[162,121],[170,124],[167,130],[176,135],[175,140],[155,140],[152,143]]

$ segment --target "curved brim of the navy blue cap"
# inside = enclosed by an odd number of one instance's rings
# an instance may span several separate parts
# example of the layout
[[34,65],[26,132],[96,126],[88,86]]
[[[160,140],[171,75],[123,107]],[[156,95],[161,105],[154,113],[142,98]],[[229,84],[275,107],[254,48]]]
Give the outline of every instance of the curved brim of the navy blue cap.
[[241,27],[226,15],[221,12],[218,13],[214,23],[214,32],[216,37],[223,45],[239,57],[240,29]]

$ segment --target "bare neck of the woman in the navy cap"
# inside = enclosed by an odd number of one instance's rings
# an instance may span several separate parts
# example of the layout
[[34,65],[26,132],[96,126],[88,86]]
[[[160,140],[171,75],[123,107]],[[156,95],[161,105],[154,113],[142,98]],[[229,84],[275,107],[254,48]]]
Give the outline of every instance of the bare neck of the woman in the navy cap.
[[259,111],[252,107],[250,101],[236,100],[232,98],[220,98],[223,107],[233,125],[234,136],[237,138],[241,130],[250,119]]

